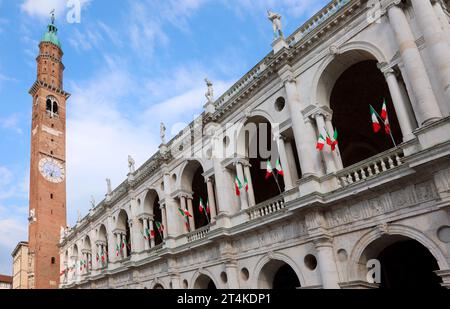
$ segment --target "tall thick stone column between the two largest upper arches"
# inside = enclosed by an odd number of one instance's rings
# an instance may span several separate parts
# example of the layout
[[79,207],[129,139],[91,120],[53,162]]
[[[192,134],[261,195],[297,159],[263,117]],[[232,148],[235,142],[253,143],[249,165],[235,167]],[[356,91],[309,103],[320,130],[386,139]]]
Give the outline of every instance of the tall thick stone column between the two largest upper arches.
[[317,143],[316,134],[312,123],[306,122],[303,118],[302,105],[297,91],[297,82],[295,78],[288,75],[285,78],[284,85],[303,176],[322,176],[323,170],[320,153],[315,149]]

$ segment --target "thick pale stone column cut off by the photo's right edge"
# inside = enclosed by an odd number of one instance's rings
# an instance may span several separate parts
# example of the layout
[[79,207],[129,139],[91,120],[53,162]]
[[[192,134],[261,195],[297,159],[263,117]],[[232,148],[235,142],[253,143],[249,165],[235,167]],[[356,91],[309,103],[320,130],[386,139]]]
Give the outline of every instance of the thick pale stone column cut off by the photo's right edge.
[[430,51],[431,62],[450,102],[450,44],[430,0],[411,0],[417,23]]

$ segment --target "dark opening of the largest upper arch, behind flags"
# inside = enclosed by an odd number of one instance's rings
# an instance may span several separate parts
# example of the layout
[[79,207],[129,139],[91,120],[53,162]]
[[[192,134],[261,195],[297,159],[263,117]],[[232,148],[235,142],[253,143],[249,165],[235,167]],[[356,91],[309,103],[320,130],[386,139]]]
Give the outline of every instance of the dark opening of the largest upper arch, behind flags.
[[[375,133],[372,128],[369,105],[378,114],[384,100],[396,144],[402,142],[402,133],[386,80],[377,67],[377,61],[358,62],[346,69],[337,79],[330,97],[333,126],[338,130],[339,146],[344,166],[349,166],[394,147],[384,129]],[[351,119],[351,121],[349,121]],[[382,120],[378,120],[382,124]]]

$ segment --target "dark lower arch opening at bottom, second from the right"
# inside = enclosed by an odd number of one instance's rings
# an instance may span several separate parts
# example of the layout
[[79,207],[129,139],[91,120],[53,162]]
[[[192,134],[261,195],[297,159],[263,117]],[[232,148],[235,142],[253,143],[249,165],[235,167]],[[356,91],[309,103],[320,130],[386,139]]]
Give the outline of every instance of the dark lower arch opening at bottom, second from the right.
[[259,289],[289,290],[300,286],[294,269],[280,260],[271,260],[264,265],[258,278]]

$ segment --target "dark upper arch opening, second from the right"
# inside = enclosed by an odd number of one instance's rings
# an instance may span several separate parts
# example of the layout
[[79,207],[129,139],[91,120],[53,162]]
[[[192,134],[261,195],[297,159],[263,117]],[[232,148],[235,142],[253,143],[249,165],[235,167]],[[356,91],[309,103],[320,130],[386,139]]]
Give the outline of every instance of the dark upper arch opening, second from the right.
[[[250,163],[256,204],[263,203],[284,192],[284,179],[275,170],[280,156],[270,122],[262,116],[249,118],[240,133],[239,143],[245,145],[244,155]],[[266,177],[268,162],[273,167],[270,177]],[[240,181],[244,183],[245,179],[240,179]]]

